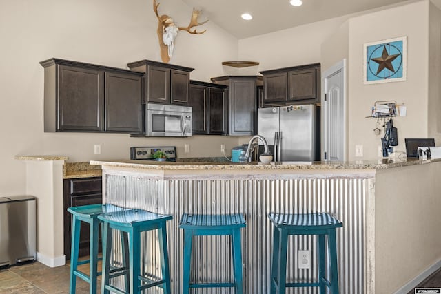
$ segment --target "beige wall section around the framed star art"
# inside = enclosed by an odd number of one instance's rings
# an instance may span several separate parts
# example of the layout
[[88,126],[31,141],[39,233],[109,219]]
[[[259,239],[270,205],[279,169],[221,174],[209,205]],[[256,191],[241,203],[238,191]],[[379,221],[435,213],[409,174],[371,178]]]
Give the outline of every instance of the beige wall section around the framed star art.
[[[376,136],[377,120],[365,118],[375,101],[396,100],[407,105],[407,116],[393,119],[398,151],[405,151],[404,138],[427,138],[428,19],[429,1],[349,19],[349,160],[356,159],[355,145],[363,145],[365,158],[378,155],[384,134]],[[398,36],[407,36],[407,81],[364,85],[363,44]]]

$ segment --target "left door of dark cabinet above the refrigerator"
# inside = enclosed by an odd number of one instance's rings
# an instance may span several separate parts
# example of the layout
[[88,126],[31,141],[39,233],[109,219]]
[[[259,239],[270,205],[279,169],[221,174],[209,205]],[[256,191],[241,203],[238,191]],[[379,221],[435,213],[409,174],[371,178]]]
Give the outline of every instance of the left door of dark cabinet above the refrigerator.
[[287,73],[278,72],[263,76],[264,103],[287,101]]

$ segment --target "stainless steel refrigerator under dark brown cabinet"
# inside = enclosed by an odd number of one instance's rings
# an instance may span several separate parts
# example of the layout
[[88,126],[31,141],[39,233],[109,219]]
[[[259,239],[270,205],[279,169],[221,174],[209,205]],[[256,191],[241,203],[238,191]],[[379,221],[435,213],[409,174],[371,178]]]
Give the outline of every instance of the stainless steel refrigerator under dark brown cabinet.
[[[257,129],[274,161],[320,160],[320,107],[316,105],[259,108]],[[259,146],[259,154],[262,149]]]

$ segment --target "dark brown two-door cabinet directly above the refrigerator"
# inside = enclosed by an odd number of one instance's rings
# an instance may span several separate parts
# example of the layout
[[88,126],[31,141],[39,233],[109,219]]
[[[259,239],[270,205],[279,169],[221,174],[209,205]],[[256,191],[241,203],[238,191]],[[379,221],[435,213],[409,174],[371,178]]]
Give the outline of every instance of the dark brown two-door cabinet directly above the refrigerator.
[[265,70],[261,107],[320,103],[320,63]]

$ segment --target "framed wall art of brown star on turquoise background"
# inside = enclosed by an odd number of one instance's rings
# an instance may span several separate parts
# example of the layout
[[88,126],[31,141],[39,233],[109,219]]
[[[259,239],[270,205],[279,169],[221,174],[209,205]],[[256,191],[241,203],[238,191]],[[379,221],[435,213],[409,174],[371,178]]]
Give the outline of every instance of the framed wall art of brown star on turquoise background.
[[365,43],[364,83],[406,81],[407,37]]

